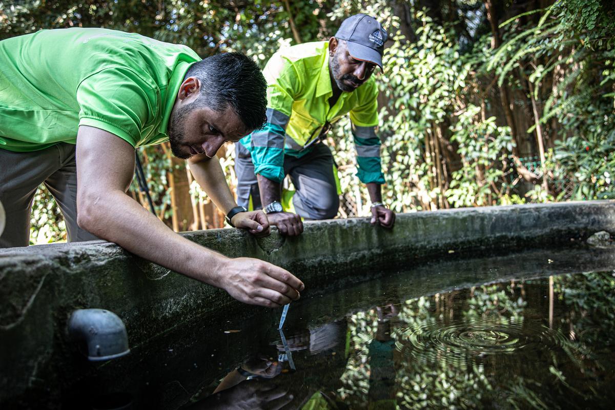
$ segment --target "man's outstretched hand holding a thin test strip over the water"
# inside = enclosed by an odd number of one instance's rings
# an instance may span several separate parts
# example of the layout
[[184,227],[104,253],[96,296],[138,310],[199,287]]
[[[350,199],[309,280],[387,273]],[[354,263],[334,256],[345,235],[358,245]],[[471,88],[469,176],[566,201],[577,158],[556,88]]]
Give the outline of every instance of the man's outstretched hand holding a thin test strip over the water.
[[233,298],[251,305],[280,307],[300,298],[303,282],[286,269],[253,258],[228,259],[219,286]]

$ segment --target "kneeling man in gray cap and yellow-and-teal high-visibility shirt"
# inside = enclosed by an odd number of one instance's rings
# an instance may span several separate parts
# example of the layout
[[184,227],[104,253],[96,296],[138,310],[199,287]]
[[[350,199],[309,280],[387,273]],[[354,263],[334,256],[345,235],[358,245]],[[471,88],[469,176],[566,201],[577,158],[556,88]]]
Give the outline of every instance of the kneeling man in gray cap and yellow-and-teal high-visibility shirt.
[[[328,219],[338,213],[333,156],[322,143],[331,124],[350,114],[357,151],[357,176],[367,185],[371,223],[390,228],[395,214],[381,197],[378,89],[371,74],[382,68],[387,33],[365,14],[342,23],[330,41],[279,50],[268,61],[267,124],[236,144],[239,205],[264,207],[282,234],[303,232],[301,218]],[[280,184],[295,186],[297,215],[282,211]]]

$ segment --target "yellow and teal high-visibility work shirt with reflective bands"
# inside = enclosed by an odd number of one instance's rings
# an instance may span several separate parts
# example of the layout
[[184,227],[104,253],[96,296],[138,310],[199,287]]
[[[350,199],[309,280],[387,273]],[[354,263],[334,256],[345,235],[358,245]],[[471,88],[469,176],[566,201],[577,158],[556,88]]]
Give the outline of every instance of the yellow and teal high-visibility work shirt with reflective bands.
[[311,151],[323,126],[350,115],[357,154],[357,176],[363,183],[384,183],[378,124],[378,88],[374,77],[352,92],[343,92],[331,107],[328,41],[293,45],[276,52],[263,71],[268,84],[267,124],[242,138],[255,173],[272,181],[284,179],[284,155]]

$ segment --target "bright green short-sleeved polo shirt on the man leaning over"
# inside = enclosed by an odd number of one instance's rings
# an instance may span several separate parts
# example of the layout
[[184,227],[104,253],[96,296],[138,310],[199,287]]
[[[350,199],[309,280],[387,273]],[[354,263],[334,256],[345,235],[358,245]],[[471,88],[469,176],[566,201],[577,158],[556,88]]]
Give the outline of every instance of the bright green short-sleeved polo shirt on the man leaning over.
[[185,45],[102,28],[42,30],[0,41],[0,149],[76,144],[79,125],[132,146],[168,139]]

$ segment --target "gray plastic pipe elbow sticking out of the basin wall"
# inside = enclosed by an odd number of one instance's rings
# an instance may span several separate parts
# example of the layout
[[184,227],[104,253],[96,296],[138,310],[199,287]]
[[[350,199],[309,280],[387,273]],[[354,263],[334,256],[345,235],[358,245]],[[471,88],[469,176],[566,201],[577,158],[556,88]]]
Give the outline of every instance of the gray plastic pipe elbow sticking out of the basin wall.
[[68,320],[68,334],[90,361],[111,360],[130,352],[126,326],[109,310],[75,310]]

